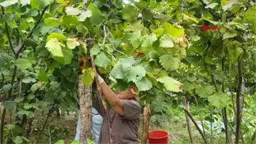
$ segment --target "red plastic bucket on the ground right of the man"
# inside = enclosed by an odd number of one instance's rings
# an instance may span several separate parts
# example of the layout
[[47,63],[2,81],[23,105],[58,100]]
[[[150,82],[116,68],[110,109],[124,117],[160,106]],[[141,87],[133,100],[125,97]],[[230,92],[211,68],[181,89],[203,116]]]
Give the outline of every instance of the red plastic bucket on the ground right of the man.
[[150,131],[149,132],[149,144],[168,144],[167,131]]

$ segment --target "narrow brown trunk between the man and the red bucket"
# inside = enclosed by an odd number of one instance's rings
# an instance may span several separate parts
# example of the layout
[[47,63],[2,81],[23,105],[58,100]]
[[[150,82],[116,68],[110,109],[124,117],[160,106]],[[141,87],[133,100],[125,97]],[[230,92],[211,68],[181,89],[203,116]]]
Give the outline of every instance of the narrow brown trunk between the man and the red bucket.
[[141,144],[147,144],[147,139],[149,137],[149,115],[150,115],[150,108],[149,104],[147,107],[144,107],[144,122],[143,122],[143,133]]

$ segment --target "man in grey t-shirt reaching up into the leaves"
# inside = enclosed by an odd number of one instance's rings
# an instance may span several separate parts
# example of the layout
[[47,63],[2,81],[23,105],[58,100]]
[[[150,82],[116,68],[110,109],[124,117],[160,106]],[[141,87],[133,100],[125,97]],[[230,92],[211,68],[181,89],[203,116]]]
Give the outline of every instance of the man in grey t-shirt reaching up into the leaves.
[[[137,101],[135,89],[127,89],[114,93],[105,81],[98,75],[99,85],[103,96],[109,101],[109,119],[114,144],[138,144],[138,127],[141,106]],[[99,144],[110,144],[109,127],[105,111],[101,111],[103,124]]]

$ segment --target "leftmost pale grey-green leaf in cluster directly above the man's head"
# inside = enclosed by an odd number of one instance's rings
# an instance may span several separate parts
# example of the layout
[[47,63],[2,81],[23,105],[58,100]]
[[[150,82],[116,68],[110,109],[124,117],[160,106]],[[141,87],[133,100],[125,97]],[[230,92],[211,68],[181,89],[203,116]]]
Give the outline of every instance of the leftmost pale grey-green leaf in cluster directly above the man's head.
[[131,65],[126,65],[122,64],[120,62],[117,62],[117,64],[115,64],[115,67],[113,67],[112,71],[111,71],[111,75],[112,77],[114,77],[115,79],[125,79],[129,69]]

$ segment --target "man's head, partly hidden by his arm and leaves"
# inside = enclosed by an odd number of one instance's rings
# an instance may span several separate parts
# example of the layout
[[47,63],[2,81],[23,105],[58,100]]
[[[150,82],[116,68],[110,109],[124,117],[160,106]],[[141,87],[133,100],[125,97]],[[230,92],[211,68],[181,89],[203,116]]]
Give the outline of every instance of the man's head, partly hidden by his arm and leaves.
[[125,91],[116,91],[115,93],[119,99],[133,99],[137,101],[138,93],[136,93],[136,87],[131,87]]

